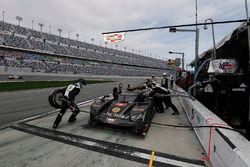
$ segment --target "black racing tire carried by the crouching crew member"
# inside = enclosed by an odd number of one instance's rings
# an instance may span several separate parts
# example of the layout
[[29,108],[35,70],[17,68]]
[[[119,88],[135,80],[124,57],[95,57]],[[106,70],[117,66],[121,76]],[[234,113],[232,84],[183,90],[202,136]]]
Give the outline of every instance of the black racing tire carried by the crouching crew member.
[[49,95],[49,104],[54,108],[62,107],[63,91],[62,89],[55,89]]

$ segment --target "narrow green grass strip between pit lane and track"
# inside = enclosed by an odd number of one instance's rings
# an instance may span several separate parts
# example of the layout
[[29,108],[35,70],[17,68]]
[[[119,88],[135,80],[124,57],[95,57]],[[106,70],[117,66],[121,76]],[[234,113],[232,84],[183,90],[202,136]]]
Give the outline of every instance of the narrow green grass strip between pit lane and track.
[[[63,87],[72,84],[74,81],[25,81],[25,82],[2,82],[0,92],[19,91],[28,89],[43,89],[52,87]],[[113,81],[87,80],[88,84],[105,83]]]

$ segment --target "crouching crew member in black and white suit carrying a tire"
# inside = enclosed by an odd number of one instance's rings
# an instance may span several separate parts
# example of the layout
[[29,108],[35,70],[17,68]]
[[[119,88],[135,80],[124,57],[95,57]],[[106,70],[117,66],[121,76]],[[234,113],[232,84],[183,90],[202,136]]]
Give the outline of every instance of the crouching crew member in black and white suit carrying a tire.
[[75,97],[80,93],[83,85],[86,85],[86,81],[84,79],[78,79],[74,84],[68,85],[65,89],[64,99],[62,100],[61,111],[56,117],[53,128],[57,128],[60,124],[62,117],[67,109],[71,109],[72,114],[69,117],[68,122],[74,122],[76,120],[77,114],[80,112],[77,104],[75,104]]

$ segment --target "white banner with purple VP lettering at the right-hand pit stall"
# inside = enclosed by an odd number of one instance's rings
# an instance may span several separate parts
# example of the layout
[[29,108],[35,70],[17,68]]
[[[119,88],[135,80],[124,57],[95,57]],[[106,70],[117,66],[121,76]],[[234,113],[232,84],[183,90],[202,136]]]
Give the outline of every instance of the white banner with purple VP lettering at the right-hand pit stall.
[[216,59],[209,63],[208,73],[234,73],[238,64],[234,59]]

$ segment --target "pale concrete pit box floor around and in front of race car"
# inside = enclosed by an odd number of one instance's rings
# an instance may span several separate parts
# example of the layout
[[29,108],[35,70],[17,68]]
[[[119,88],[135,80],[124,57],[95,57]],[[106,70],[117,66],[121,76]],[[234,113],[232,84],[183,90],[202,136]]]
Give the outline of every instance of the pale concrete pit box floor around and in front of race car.
[[[176,98],[179,116],[171,109],[157,113],[153,122],[189,125]],[[0,166],[210,166],[194,132],[152,124],[146,137],[105,128],[83,128],[90,102],[82,103],[77,122],[68,124],[70,112],[52,129],[56,112],[25,119],[1,131]],[[17,151],[19,150],[19,151]],[[19,166],[18,165],[18,166]]]

